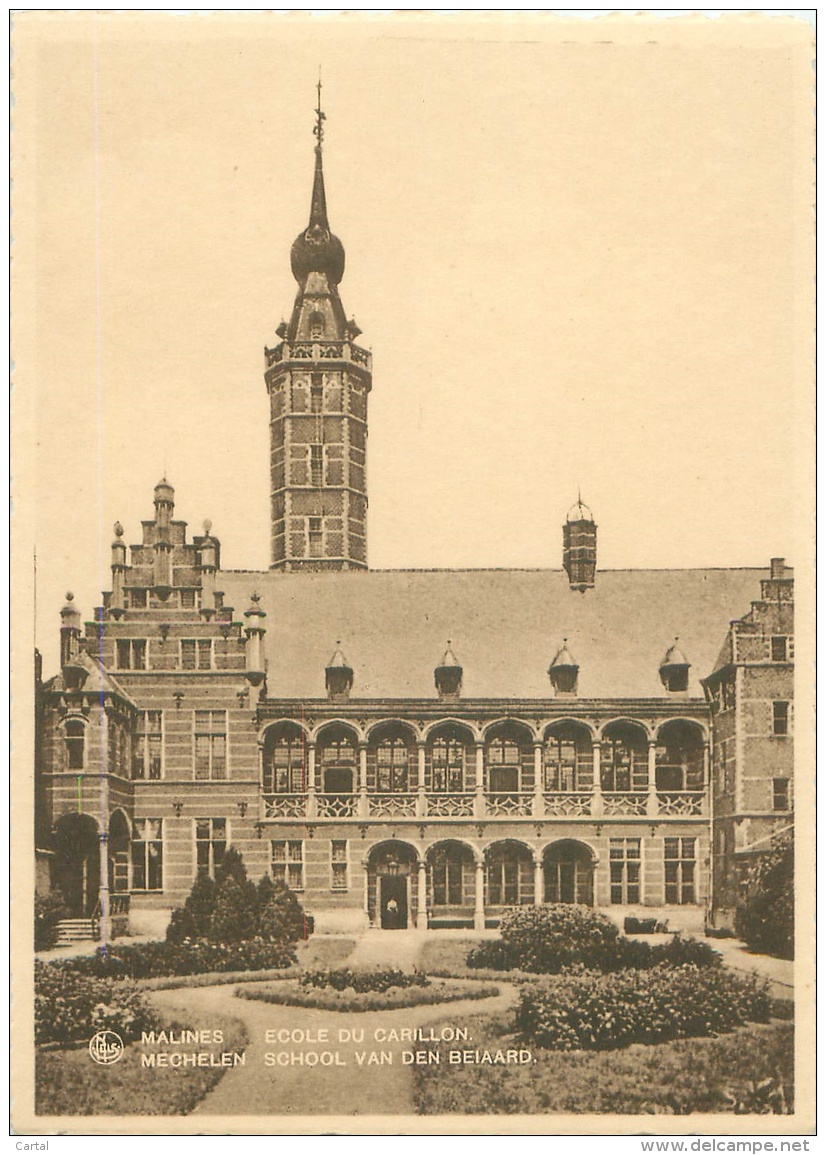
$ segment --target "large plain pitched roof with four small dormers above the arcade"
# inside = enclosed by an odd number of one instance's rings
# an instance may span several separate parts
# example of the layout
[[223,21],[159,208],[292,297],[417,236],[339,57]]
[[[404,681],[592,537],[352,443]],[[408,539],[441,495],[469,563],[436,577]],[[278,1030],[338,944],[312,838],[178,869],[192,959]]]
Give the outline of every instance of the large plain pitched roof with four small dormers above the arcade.
[[267,611],[270,698],[323,698],[337,639],[352,698],[436,698],[447,639],[462,656],[464,698],[549,698],[563,638],[580,698],[662,698],[658,668],[675,635],[689,692],[714,668],[732,618],[760,595],[765,569],[605,569],[586,594],[561,569],[223,571],[225,603],[258,590]]

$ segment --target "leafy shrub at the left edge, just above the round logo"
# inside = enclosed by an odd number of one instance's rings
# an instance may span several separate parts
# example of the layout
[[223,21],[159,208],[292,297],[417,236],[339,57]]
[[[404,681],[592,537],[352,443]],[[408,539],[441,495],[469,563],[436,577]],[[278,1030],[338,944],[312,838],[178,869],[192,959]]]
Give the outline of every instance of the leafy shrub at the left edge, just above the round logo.
[[35,962],[36,1043],[87,1041],[104,1029],[116,1030],[126,1043],[152,1024],[150,1007],[131,983]]

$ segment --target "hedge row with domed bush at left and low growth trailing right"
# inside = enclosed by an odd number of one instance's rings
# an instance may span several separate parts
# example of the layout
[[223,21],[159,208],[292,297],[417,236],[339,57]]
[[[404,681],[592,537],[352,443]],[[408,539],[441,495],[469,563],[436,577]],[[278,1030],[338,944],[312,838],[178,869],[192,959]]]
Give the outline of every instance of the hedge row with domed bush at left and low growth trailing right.
[[714,967],[721,955],[707,942],[675,934],[668,942],[640,942],[622,936],[605,915],[574,903],[549,903],[509,911],[501,938],[481,942],[468,967],[557,975],[572,967],[613,971],[653,967]]

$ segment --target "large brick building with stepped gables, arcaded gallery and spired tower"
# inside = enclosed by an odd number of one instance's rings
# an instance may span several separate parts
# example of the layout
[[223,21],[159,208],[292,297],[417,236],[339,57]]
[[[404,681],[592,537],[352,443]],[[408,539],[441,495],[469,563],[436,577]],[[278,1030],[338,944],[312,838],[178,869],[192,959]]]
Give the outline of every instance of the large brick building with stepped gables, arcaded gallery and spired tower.
[[67,934],[158,926],[230,843],[319,930],[478,930],[535,902],[698,929],[790,821],[789,571],[598,571],[581,500],[561,568],[369,569],[371,357],[338,296],[321,117],[317,137],[265,355],[270,571],[224,569],[209,522],[188,541],[163,479],[38,683],[38,850]]

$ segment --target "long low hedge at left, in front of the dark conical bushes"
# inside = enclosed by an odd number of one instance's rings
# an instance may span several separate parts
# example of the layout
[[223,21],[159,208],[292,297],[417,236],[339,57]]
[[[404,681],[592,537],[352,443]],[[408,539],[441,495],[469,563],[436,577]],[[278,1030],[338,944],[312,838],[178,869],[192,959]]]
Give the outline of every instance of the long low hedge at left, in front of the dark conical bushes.
[[80,975],[109,978],[161,978],[209,971],[280,970],[296,962],[288,942],[209,942],[204,939],[174,942],[112,944],[90,957],[67,959],[57,966]]

